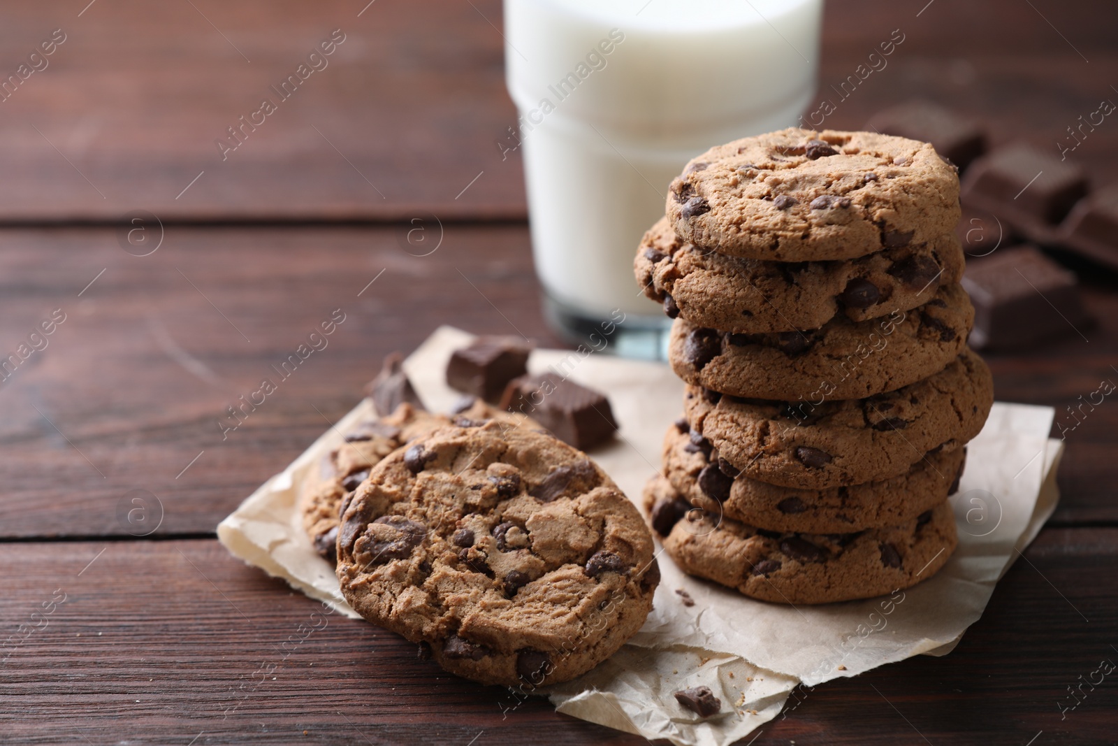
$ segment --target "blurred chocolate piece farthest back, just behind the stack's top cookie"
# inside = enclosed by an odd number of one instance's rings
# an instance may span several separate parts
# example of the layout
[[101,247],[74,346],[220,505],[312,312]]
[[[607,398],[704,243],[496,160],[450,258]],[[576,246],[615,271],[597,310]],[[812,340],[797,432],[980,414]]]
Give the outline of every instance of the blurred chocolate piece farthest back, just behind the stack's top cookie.
[[915,100],[879,112],[865,128],[883,134],[930,142],[959,171],[986,152],[986,134],[974,120],[930,101]]

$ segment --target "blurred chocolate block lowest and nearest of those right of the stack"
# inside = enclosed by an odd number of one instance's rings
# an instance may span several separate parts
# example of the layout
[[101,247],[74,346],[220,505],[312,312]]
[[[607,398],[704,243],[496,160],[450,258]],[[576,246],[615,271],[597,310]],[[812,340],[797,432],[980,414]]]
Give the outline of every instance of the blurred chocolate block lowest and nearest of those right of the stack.
[[1076,275],[1033,246],[1002,248],[969,262],[963,286],[975,306],[970,347],[1012,350],[1079,338],[1090,321]]

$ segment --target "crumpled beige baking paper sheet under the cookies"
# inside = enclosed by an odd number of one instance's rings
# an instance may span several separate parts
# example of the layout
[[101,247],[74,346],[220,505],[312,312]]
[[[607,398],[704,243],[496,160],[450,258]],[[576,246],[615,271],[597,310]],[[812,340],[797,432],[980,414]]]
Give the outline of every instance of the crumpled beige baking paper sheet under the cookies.
[[[459,397],[446,387],[444,371],[451,352],[471,339],[442,327],[405,361],[432,410],[446,410]],[[682,409],[683,384],[671,368],[589,350],[536,350],[529,368],[551,368],[609,396],[620,432],[590,456],[639,504],[644,483],[660,468],[664,431]],[[1062,443],[1048,437],[1053,414],[1050,407],[994,405],[968,446],[967,469],[951,498],[958,549],[931,579],[892,596],[793,607],[689,577],[661,556],[663,579],[644,627],[595,670],[552,687],[551,701],[561,712],[646,738],[721,746],[779,715],[800,682],[856,676],[919,653],[946,654],[1055,510]],[[362,400],[218,526],[218,538],[235,556],[353,617],[333,569],[303,533],[295,504],[306,470],[370,416],[372,406]],[[694,605],[684,605],[678,589]],[[722,700],[723,714],[702,720],[672,696],[701,684]],[[510,696],[502,706],[506,717],[515,717],[514,706]]]

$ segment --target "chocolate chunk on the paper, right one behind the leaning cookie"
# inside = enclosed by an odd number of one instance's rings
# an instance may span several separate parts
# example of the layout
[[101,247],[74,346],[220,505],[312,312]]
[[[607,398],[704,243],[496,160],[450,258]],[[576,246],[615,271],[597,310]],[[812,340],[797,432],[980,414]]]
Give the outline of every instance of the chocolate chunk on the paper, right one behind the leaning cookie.
[[501,397],[501,408],[528,415],[581,451],[608,441],[617,431],[604,394],[555,374],[511,380]]

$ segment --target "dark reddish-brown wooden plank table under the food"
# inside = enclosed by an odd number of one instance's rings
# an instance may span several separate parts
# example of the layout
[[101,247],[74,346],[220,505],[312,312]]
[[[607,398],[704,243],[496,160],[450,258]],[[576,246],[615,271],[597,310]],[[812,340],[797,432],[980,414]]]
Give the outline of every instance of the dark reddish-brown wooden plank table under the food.
[[[559,343],[522,164],[494,145],[515,121],[499,1],[86,2],[9,3],[0,28],[3,75],[66,38],[0,104],[0,352],[65,314],[0,384],[0,639],[21,640],[0,652],[0,742],[637,743],[542,699],[503,718],[500,689],[364,623],[307,635],[318,604],[215,539],[387,352],[446,321],[508,332],[502,313]],[[1054,149],[1118,97],[1115,22],[1106,0],[832,1],[821,92],[906,40],[828,125],[920,95]],[[330,66],[222,160],[215,140],[334,29]],[[1118,124],[1074,159],[1118,178]],[[149,256],[122,251],[130,210],[161,221]],[[410,256],[401,226],[429,214],[443,245]],[[991,356],[999,399],[1067,419],[1118,380],[1118,281],[1078,268],[1089,341]],[[225,408],[338,308],[329,348],[222,438]],[[749,743],[1116,743],[1118,682],[1058,706],[1118,659],[1116,433],[1108,399],[1068,435],[1059,510],[951,654],[798,690]],[[161,519],[148,536],[122,518],[136,506]]]

